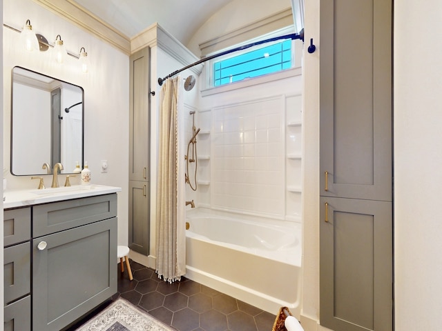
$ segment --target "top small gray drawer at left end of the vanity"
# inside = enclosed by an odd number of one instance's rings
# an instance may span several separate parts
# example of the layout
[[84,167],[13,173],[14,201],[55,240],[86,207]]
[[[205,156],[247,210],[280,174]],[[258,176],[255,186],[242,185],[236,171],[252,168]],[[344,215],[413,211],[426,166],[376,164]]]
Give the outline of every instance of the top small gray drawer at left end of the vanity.
[[30,207],[3,212],[4,247],[30,239]]

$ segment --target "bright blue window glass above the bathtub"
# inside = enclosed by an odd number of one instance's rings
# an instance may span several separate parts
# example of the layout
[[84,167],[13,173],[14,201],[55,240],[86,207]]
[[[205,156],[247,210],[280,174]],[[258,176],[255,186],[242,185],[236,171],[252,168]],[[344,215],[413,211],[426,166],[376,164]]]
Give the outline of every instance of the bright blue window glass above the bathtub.
[[213,63],[213,81],[221,86],[291,68],[291,40]]

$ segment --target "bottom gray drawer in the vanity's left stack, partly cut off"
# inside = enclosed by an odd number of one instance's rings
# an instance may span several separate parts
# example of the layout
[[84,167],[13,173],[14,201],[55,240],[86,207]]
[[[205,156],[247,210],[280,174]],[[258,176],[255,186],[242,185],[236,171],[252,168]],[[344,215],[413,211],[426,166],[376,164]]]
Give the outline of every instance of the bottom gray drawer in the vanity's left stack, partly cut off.
[[30,296],[15,301],[4,308],[5,331],[30,330]]

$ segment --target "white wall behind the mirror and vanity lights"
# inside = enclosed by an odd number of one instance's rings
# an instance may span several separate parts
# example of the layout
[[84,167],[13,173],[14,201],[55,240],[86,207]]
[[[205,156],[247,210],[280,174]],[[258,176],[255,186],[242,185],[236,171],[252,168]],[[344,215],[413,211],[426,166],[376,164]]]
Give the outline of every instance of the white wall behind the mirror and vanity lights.
[[[61,35],[66,48],[78,53],[86,48],[90,71],[83,74],[78,60],[67,57],[62,65],[49,61],[48,52],[26,53],[18,45],[19,33],[3,28],[3,168],[10,163],[11,70],[22,66],[84,88],[84,157],[92,182],[122,188],[118,193],[118,242],[128,240],[128,56],[42,8],[32,0],[3,1],[4,22],[20,28],[30,19],[35,32],[48,41]],[[101,173],[101,160],[108,160],[108,172]],[[64,177],[60,176],[63,183]],[[8,190],[37,188],[30,177],[8,174]],[[45,177],[50,185],[50,176]],[[79,183],[79,177],[71,183]]]

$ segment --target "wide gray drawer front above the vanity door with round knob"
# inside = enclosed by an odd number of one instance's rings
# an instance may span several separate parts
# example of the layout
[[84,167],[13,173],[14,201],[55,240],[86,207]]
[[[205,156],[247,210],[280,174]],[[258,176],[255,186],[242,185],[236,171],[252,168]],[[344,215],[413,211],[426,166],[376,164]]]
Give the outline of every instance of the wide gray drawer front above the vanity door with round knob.
[[117,194],[35,205],[32,237],[40,237],[117,216]]

